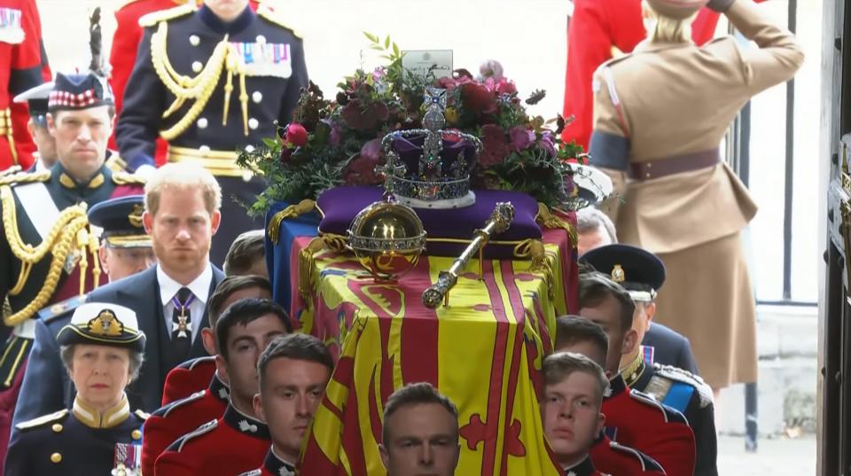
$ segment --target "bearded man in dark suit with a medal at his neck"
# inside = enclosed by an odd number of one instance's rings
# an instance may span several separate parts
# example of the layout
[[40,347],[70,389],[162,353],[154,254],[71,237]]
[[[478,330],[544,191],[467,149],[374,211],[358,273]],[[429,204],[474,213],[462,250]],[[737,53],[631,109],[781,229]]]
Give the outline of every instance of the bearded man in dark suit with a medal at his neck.
[[[147,337],[139,378],[127,390],[130,406],[160,407],[168,371],[207,355],[200,330],[207,327],[206,302],[223,279],[209,261],[211,238],[219,228],[221,189],[203,168],[168,164],[145,185],[144,229],[159,263],[142,273],[105,285],[89,301],[113,302],[136,311]],[[70,315],[39,320],[15,422],[69,408],[73,386],[59,361],[56,335]]]

